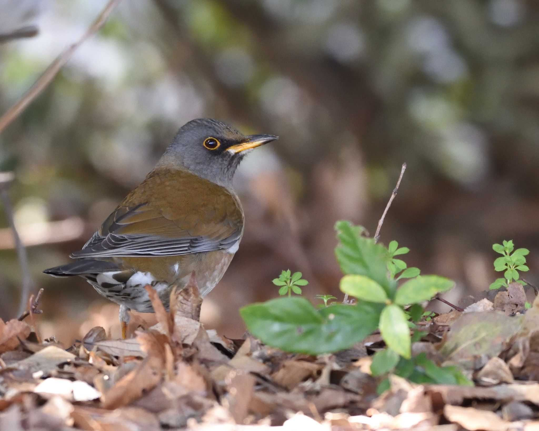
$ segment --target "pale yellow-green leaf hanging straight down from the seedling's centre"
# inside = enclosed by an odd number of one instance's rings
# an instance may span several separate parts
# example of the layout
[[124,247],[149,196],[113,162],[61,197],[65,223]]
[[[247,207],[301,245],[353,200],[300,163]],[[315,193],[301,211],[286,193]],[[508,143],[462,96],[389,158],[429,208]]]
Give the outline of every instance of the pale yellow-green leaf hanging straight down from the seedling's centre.
[[402,308],[396,304],[391,304],[382,310],[382,314],[380,315],[380,333],[385,344],[390,349],[395,350],[404,358],[410,358],[410,329]]

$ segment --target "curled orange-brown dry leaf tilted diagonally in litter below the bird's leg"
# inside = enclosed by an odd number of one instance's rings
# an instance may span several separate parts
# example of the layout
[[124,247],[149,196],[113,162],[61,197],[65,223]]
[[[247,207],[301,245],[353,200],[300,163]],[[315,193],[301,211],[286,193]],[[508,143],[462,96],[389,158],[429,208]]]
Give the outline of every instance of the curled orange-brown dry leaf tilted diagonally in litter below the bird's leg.
[[148,356],[135,370],[122,377],[103,397],[103,407],[114,409],[127,406],[154,388],[163,377],[163,359]]

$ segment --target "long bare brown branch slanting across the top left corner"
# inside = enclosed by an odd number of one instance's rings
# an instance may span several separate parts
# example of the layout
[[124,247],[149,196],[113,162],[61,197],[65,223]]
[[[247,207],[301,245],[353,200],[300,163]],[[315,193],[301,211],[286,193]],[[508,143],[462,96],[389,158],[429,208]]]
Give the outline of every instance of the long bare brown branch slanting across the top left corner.
[[110,0],[105,6],[105,9],[101,11],[92,25],[88,27],[88,30],[82,34],[80,39],[61,52],[49,67],[45,69],[43,75],[38,78],[29,91],[27,91],[15,105],[9,108],[8,111],[0,117],[0,133],[2,133],[2,130],[15,120],[19,114],[22,113],[23,110],[51,83],[61,67],[71,58],[75,50],[105,24],[110,12],[112,12],[120,2],[121,0]]

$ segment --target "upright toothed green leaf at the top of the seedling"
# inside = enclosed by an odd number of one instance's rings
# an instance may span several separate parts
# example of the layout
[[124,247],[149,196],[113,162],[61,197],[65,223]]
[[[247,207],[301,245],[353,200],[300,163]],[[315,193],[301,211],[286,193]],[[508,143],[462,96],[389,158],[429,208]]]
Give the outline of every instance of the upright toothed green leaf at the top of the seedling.
[[335,228],[340,241],[335,255],[343,273],[370,277],[391,296],[396,282],[387,276],[388,252],[385,247],[375,244],[371,238],[361,237],[362,228],[351,225],[349,221],[338,221]]

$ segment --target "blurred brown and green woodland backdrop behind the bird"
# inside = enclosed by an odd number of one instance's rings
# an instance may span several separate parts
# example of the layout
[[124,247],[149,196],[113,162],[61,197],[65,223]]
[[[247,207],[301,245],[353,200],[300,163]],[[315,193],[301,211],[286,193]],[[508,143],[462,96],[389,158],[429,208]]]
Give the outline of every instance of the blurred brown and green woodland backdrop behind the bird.
[[[104,0],[0,0],[5,112],[73,43]],[[43,336],[65,343],[117,325],[117,307],[68,261],[153,167],[176,130],[215,117],[279,135],[240,166],[240,250],[203,321],[229,337],[237,309],[277,296],[281,269],[305,295],[339,298],[333,225],[374,234],[407,162],[381,240],[409,266],[452,277],[459,296],[497,278],[494,242],[539,266],[539,3],[533,0],[125,0],[0,135],[0,170],[28,245]],[[0,317],[16,315],[20,267],[0,214]],[[437,309],[448,310],[446,305]],[[115,331],[116,329],[113,328]]]

